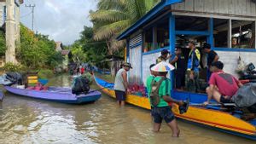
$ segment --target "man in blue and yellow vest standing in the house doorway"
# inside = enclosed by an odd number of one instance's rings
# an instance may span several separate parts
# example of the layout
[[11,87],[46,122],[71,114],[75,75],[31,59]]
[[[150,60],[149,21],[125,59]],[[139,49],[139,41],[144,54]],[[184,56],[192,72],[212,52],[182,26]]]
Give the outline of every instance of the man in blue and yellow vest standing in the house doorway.
[[199,90],[199,66],[201,60],[201,54],[198,49],[195,48],[195,42],[189,42],[189,60],[187,68],[187,88],[191,92],[198,92]]

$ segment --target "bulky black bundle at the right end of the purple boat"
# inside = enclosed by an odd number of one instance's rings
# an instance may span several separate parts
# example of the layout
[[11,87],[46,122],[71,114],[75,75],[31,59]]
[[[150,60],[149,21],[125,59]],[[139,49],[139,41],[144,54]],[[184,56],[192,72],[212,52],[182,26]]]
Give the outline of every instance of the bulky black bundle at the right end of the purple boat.
[[74,78],[72,86],[72,94],[80,95],[88,94],[90,91],[90,80],[84,77]]

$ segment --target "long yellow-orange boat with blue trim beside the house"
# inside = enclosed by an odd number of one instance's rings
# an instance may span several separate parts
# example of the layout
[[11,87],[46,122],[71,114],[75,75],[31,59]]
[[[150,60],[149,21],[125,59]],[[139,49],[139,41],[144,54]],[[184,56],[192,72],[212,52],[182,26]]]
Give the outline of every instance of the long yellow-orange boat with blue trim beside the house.
[[[105,94],[115,98],[113,84],[96,77],[95,80]],[[172,91],[172,97],[177,100],[189,98],[190,102],[194,104],[207,100],[207,95],[177,91]],[[126,102],[137,107],[150,109],[148,97],[127,95]],[[256,141],[256,119],[251,121],[241,120],[241,112],[223,112],[220,107],[189,106],[188,112],[180,114],[177,105],[172,106],[172,112],[175,113],[177,118]]]

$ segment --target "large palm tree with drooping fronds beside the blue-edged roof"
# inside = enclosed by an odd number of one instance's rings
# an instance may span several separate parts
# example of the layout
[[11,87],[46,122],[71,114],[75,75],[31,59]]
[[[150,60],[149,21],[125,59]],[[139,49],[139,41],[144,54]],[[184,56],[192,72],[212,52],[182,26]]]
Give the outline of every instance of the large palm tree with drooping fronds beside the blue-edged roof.
[[160,0],[100,0],[98,10],[90,12],[90,20],[94,23],[94,39],[106,40],[108,53],[113,55],[125,47],[125,41],[117,41],[117,37],[129,26],[143,17]]

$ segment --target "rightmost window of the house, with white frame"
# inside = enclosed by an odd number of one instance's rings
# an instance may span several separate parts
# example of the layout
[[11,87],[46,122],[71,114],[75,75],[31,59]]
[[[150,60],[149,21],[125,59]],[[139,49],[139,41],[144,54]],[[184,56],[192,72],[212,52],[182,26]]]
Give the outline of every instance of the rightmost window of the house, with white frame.
[[232,21],[232,48],[255,48],[255,22],[249,20]]

